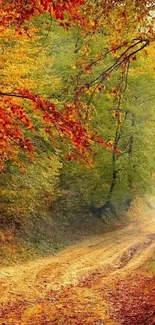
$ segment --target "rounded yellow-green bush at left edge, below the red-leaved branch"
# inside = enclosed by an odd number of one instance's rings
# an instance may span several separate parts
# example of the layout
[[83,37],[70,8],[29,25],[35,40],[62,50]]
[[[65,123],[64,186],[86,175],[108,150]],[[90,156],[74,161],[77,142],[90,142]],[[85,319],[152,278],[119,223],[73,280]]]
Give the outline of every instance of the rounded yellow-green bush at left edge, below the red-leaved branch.
[[[49,207],[59,195],[58,176],[61,164],[55,155],[41,154],[35,162],[25,161],[26,171],[10,166],[0,181],[1,225],[20,230],[28,226],[29,218],[46,215]],[[32,182],[33,180],[33,182]]]

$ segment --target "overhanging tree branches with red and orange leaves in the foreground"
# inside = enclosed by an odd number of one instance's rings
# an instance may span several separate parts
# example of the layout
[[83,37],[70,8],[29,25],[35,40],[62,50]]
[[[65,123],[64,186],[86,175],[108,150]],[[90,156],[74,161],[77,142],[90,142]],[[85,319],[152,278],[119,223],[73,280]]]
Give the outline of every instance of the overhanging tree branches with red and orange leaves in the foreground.
[[[61,21],[61,25],[69,28],[71,25],[82,27],[84,34],[88,36],[88,46],[85,43],[86,51],[89,51],[90,41],[94,35],[102,34],[108,38],[106,51],[97,53],[97,57],[86,57],[79,60],[77,64],[82,66],[78,69],[77,77],[74,80],[72,101],[64,103],[64,109],[57,109],[56,103],[43,99],[40,95],[28,89],[16,89],[14,92],[1,91],[1,170],[4,168],[4,161],[16,159],[20,150],[24,149],[32,153],[33,145],[31,137],[27,137],[27,130],[34,131],[35,127],[31,121],[27,109],[16,103],[16,99],[24,99],[32,104],[31,114],[34,109],[39,110],[42,115],[42,122],[45,131],[53,137],[51,126],[57,130],[60,136],[69,138],[79,159],[89,161],[91,146],[98,142],[105,147],[119,152],[114,144],[96,136],[96,133],[88,129],[88,115],[91,115],[90,104],[93,96],[98,91],[104,90],[103,82],[110,77],[112,72],[119,69],[122,78],[126,78],[129,65],[136,59],[138,52],[148,46],[154,37],[153,31],[153,10],[151,1],[83,1],[83,0],[57,0],[57,1],[1,1],[0,25],[2,32],[6,28],[16,28],[18,34],[29,35],[28,23],[32,17],[48,13],[55,19]],[[131,23],[132,22],[132,23]],[[117,25],[117,28],[115,26]],[[104,60],[107,56],[113,57],[113,63],[104,67]],[[103,70],[93,75],[93,70],[103,63]],[[87,75],[90,75],[86,82]],[[73,80],[72,80],[73,82]],[[122,84],[117,87],[117,97],[121,97]],[[89,100],[85,102],[85,95],[89,91]],[[13,98],[13,99],[12,99]],[[25,105],[25,104],[24,104]],[[89,113],[90,112],[90,113]],[[30,114],[30,115],[31,115]],[[81,119],[81,116],[83,118]],[[117,142],[117,141],[116,141]],[[74,159],[77,153],[68,156]]]

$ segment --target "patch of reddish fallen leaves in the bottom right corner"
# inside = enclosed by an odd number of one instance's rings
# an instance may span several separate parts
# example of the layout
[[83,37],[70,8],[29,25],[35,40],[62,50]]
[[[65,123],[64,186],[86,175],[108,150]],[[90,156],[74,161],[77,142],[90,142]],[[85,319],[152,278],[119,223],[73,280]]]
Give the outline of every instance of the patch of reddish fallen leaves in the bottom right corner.
[[120,325],[155,324],[155,276],[134,274],[118,279],[107,300],[112,318]]

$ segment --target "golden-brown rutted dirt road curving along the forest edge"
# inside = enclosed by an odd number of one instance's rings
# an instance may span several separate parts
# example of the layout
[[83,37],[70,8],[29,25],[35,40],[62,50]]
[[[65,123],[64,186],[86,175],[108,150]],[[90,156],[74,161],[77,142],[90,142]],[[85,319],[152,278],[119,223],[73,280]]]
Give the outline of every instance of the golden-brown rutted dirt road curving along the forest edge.
[[[0,324],[128,325],[130,322],[123,323],[119,318],[121,307],[117,307],[116,314],[113,310],[113,305],[117,305],[117,283],[121,280],[122,285],[127,285],[127,279],[136,272],[138,277],[154,251],[152,215],[149,221],[132,222],[124,229],[90,238],[56,256],[1,268]],[[144,324],[155,324],[152,319]]]

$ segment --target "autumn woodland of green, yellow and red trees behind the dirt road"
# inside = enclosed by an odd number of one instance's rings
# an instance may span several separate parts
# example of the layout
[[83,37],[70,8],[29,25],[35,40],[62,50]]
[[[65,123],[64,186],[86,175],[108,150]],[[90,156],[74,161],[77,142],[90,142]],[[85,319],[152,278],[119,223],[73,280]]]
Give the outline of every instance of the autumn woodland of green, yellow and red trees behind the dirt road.
[[[1,6],[0,256],[8,265],[121,225],[135,197],[154,196],[155,44],[145,1],[86,1],[83,19],[44,7],[20,24]],[[41,101],[68,124],[49,111],[43,118]]]

